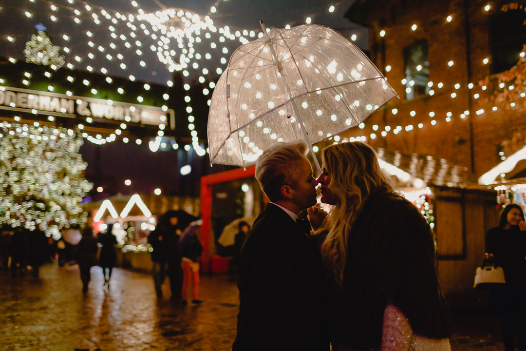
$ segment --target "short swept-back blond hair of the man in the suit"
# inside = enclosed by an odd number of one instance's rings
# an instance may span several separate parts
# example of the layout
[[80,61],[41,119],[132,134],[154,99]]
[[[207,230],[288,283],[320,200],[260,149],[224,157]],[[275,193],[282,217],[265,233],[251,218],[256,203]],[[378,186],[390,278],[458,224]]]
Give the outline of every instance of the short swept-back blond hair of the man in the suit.
[[297,163],[305,158],[307,144],[302,141],[276,143],[267,148],[256,161],[255,177],[270,201],[281,198],[281,187],[296,187]]

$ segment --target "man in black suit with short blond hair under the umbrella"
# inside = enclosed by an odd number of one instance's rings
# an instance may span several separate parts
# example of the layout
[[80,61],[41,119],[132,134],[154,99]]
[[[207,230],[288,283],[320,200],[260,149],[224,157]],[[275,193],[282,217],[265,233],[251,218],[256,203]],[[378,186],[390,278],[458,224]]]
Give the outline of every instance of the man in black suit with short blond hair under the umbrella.
[[305,143],[278,143],[256,162],[270,202],[241,248],[233,351],[329,349],[319,246],[296,222],[316,205],[318,182],[305,152]]

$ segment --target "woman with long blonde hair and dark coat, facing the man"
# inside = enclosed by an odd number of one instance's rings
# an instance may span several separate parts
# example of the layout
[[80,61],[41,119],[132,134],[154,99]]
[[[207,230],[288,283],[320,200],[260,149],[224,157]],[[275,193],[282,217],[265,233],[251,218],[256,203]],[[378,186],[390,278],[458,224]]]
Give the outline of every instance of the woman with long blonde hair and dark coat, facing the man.
[[[329,273],[331,344],[347,350],[449,350],[450,315],[426,220],[395,193],[375,151],[360,142],[322,153],[317,233]],[[316,212],[311,223],[322,216]]]

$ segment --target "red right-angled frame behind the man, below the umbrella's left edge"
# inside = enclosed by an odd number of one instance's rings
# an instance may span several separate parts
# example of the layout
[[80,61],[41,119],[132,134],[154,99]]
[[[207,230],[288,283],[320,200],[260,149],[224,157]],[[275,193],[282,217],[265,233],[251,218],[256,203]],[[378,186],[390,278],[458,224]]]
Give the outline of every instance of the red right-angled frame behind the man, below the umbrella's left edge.
[[230,180],[253,177],[256,166],[248,168],[237,168],[231,171],[210,174],[201,177],[201,244],[203,245],[203,254],[201,255],[201,272],[208,273],[211,271],[211,262],[209,255],[210,248],[210,222],[212,214],[212,185],[229,182]]

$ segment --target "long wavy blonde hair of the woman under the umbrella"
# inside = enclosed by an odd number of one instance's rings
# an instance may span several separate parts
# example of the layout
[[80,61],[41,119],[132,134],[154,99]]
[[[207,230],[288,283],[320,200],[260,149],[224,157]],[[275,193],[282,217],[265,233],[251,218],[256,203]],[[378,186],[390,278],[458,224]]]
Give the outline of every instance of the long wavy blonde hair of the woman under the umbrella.
[[349,236],[363,204],[370,194],[393,192],[389,178],[380,169],[375,151],[361,142],[340,143],[326,147],[323,162],[331,180],[328,188],[338,204],[318,232],[327,232],[321,248],[323,264],[341,285]]

